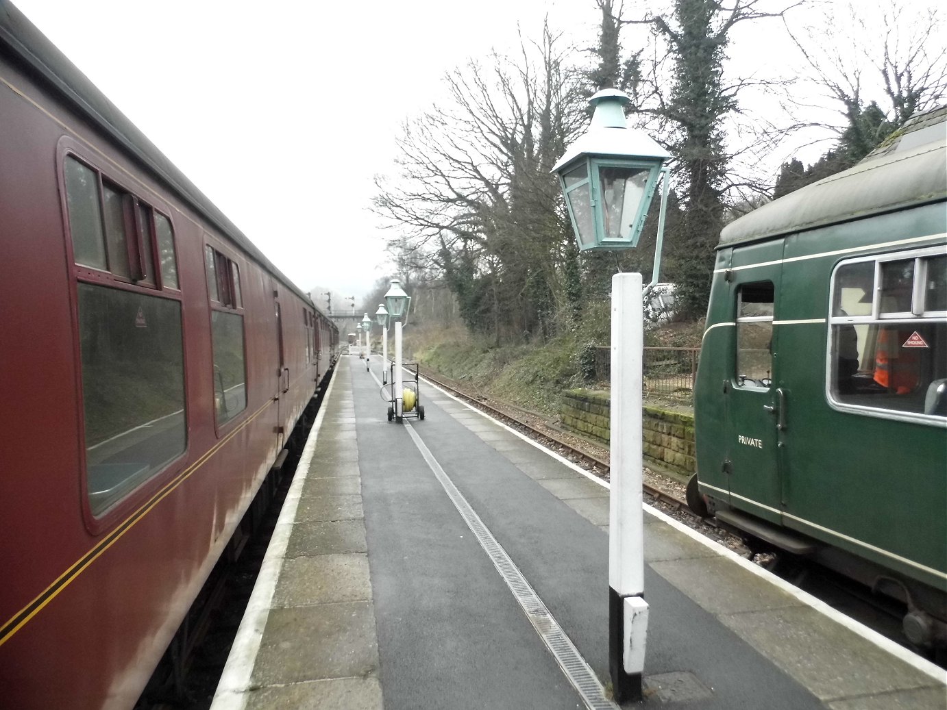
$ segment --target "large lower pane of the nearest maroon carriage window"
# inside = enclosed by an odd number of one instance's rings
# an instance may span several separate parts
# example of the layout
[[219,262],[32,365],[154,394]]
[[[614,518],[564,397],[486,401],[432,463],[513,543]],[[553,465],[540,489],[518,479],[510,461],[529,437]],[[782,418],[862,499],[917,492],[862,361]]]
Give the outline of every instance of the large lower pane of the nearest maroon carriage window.
[[103,513],[184,453],[181,303],[80,283],[89,505]]

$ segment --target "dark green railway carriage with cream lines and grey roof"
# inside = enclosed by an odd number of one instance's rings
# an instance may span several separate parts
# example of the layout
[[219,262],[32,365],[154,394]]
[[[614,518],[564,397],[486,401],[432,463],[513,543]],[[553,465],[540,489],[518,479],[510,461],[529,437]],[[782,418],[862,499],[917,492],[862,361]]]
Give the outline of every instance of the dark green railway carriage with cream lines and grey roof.
[[947,109],[728,225],[692,507],[902,599],[947,641]]

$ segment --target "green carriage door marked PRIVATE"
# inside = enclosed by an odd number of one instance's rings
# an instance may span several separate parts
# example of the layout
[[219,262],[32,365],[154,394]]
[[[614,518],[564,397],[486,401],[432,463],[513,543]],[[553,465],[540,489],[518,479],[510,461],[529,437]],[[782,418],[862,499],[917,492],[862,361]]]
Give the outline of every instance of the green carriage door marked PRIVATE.
[[727,275],[735,310],[724,428],[730,497],[761,518],[778,521],[781,512],[778,451],[785,416],[785,393],[777,388],[777,294],[782,240],[735,247]]

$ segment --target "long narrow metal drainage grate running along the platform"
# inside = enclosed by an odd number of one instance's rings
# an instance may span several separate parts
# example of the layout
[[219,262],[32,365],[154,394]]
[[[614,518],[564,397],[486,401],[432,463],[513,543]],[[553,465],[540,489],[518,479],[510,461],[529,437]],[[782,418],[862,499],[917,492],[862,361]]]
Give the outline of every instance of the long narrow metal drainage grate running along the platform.
[[493,565],[500,576],[507,582],[509,590],[516,597],[523,611],[526,612],[527,618],[543,639],[546,648],[549,649],[556,662],[563,669],[565,677],[579,691],[585,705],[590,710],[617,710],[617,705],[605,697],[605,689],[599,683],[599,678],[592,671],[592,668],[581,657],[579,649],[575,647],[553,615],[545,608],[543,600],[529,585],[526,577],[523,577],[523,573],[513,563],[513,560],[509,559],[507,551],[496,541],[491,531],[480,520],[480,516],[476,514],[474,508],[457,490],[447,473],[440,468],[438,460],[421,441],[414,427],[408,424],[407,421],[404,422],[404,425],[427,465],[434,471],[440,485],[447,491],[447,495],[456,506],[457,511],[474,533],[488,557],[493,561]]

